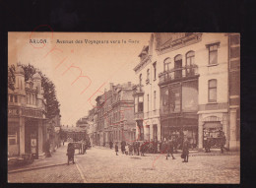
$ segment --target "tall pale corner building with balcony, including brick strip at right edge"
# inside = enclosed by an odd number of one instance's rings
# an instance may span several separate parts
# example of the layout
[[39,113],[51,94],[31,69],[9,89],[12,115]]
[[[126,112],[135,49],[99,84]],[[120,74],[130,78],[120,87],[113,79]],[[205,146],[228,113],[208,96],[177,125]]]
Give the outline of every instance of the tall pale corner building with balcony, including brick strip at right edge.
[[[153,33],[134,69],[137,136],[175,137],[180,148],[185,136],[201,150],[206,138],[218,138],[223,131],[226,147],[238,149],[239,50],[237,33]],[[158,107],[160,112],[152,115]],[[150,119],[159,123],[158,134]]]

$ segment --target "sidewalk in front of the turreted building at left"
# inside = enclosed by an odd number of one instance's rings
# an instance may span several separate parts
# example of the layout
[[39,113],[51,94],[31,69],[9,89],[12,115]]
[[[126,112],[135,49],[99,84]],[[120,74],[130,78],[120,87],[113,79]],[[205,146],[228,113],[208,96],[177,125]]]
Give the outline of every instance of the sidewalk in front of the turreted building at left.
[[10,170],[8,169],[8,173],[66,164],[67,144],[68,143],[65,143],[64,146],[61,146],[56,150],[56,152],[53,152],[51,157],[34,159],[32,164],[28,165],[10,167]]

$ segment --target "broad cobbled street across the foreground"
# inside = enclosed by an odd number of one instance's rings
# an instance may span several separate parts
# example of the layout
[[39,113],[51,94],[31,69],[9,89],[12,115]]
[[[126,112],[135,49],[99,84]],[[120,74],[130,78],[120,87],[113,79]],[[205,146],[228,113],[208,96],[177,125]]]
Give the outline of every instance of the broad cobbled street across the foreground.
[[[77,151],[78,153],[78,151]],[[126,156],[114,150],[93,147],[85,155],[75,155],[75,164],[63,164],[8,174],[9,182],[41,183],[239,183],[239,153],[191,152],[189,161],[165,159],[165,155]],[[66,146],[53,154],[48,164],[67,161]],[[39,161],[34,161],[33,166]],[[41,161],[41,163],[43,163]],[[46,166],[44,160],[43,165]]]

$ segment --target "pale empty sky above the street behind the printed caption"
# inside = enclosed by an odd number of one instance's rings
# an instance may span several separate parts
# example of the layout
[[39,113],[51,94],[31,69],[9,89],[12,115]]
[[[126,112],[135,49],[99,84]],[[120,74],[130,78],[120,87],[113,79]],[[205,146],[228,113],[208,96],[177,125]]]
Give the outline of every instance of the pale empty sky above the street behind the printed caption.
[[[8,64],[20,61],[41,70],[55,84],[61,124],[75,125],[96,104],[96,96],[109,90],[109,83],[138,83],[133,68],[150,34],[9,32]],[[46,43],[33,43],[40,39]]]

